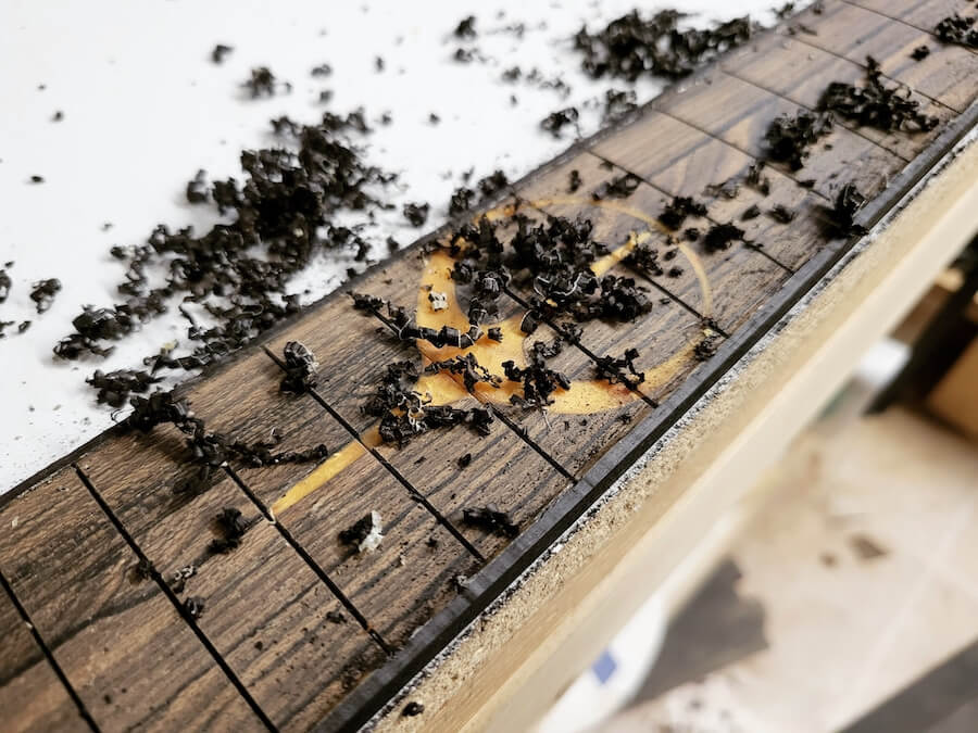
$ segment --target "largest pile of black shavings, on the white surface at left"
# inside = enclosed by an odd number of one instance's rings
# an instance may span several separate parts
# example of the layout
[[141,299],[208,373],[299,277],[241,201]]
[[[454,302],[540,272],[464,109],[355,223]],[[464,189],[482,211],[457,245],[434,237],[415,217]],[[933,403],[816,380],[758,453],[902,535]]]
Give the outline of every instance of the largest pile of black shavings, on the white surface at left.
[[[54,347],[58,356],[106,356],[111,342],[179,306],[190,320],[191,353],[145,362],[152,374],[206,366],[296,313],[300,294],[289,292],[289,281],[318,254],[341,249],[366,257],[366,242],[335,222],[386,207],[371,191],[394,176],[367,165],[351,140],[369,131],[362,111],[326,113],[316,125],[277,122],[281,144],[242,152],[240,181],[216,180],[204,191],[198,175],[188,191],[191,200],[203,198],[221,214],[233,213],[234,222],[202,235],[160,225],[145,244],[113,248],[127,268],[117,287],[124,300],[86,306],[73,320],[75,332]],[[191,307],[208,327],[198,325]]]

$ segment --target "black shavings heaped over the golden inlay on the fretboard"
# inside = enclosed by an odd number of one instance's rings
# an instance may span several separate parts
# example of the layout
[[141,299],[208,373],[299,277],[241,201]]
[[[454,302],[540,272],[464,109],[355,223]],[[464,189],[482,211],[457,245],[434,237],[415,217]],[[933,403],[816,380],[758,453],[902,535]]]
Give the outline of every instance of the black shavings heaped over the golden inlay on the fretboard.
[[[461,299],[468,302],[467,332],[447,326],[440,330],[418,327],[405,308],[368,294],[351,293],[354,307],[381,317],[403,341],[421,339],[436,347],[461,349],[478,341],[484,332],[482,324],[498,318],[498,300],[514,277],[534,290],[522,324],[526,333],[532,332],[541,319],[549,319],[563,340],[573,341],[579,337],[579,330],[573,326],[575,321],[603,318],[625,323],[651,309],[648,289],[632,278],[598,277],[591,271],[591,265],[609,250],[593,240],[589,220],[549,216],[546,223],[534,224],[519,213],[513,219],[516,231],[509,245],[503,245],[499,238],[499,228],[509,225],[486,217],[460,227],[450,239],[449,253],[455,260],[451,276]],[[547,361],[556,356],[561,347],[560,340],[551,344],[538,341],[530,350],[526,367],[513,362],[503,364],[506,379],[523,386],[523,395],[511,397],[513,404],[543,409],[552,403],[551,395],[556,389],[569,388],[565,375],[547,366]],[[461,375],[468,391],[478,383],[490,388],[500,386],[499,375],[489,374],[472,354],[432,364],[427,369]],[[363,406],[366,414],[380,418],[380,437],[385,442],[403,445],[413,435],[455,425],[488,433],[492,421],[490,407],[459,409],[431,405],[427,395],[414,391],[418,377],[413,362],[389,365],[376,392]]]

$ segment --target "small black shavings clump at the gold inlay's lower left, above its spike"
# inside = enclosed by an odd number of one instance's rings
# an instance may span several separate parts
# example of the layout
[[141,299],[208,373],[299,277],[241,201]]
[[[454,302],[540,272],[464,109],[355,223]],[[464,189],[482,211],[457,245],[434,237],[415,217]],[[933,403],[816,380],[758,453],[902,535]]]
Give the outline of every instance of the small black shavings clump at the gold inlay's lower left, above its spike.
[[[473,387],[475,382],[491,380],[473,359]],[[380,418],[379,433],[386,443],[404,446],[412,438],[438,428],[464,425],[480,435],[488,435],[494,416],[491,407],[457,408],[450,405],[432,405],[428,395],[414,390],[419,377],[413,362],[396,362],[388,365],[376,391],[363,405],[367,415]]]

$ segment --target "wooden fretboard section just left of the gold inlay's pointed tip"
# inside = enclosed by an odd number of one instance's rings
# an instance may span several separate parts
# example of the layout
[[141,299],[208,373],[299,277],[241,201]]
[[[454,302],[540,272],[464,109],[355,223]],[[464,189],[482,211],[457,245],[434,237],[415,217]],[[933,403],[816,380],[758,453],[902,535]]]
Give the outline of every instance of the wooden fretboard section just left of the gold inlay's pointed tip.
[[[121,438],[78,465],[164,578],[196,568],[178,595],[203,601],[199,627],[273,722],[308,726],[383,654],[348,614],[347,623],[329,620],[344,612],[340,603],[230,478],[218,472],[206,492],[174,493],[191,470],[187,451],[166,426]],[[237,549],[211,553],[215,519],[228,508],[255,525]],[[317,688],[303,684],[310,674]]]

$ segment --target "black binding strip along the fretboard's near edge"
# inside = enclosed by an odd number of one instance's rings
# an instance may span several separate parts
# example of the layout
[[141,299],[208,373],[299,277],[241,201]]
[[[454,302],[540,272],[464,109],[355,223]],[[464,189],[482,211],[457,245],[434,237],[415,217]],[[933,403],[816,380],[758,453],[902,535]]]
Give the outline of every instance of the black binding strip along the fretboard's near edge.
[[[623,122],[623,126],[654,109],[655,101],[644,105]],[[928,150],[893,176],[890,185],[873,199],[857,216],[857,224],[872,228],[887,214],[901,208],[901,202],[955,144],[978,124],[978,103],[951,122]],[[619,129],[619,127],[616,127]],[[531,175],[557,167],[579,154],[585,146],[609,137],[604,130],[575,144],[552,163]],[[527,176],[529,178],[529,176]],[[398,693],[451,644],[505,590],[541,558],[550,546],[617,481],[625,471],[660,440],[700,397],[747,354],[788,311],[791,309],[831,268],[862,239],[853,236],[838,247],[829,247],[813,255],[792,275],[782,288],[732,337],[725,340],[716,354],[701,369],[701,378],[684,382],[660,408],[624,439],[612,445],[590,470],[569,490],[561,494],[543,515],[513,540],[482,570],[468,579],[465,590],[435,618],[422,627],[387,665],[374,672],[356,690],[346,696],[323,719],[316,730],[355,731],[381,712]]]

